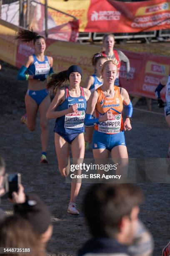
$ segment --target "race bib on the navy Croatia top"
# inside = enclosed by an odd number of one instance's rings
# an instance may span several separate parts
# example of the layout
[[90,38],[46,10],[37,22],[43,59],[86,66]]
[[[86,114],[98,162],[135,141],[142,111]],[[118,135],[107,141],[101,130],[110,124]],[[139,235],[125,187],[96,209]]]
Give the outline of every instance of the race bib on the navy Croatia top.
[[65,115],[64,128],[80,128],[84,126],[85,111],[76,111]]

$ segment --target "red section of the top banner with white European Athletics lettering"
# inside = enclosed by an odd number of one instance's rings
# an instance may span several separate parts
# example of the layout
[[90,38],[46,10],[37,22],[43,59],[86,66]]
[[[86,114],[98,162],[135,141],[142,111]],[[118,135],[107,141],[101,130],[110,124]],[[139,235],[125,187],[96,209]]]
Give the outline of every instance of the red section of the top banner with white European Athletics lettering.
[[87,32],[137,33],[170,29],[170,0],[123,3],[91,0]]

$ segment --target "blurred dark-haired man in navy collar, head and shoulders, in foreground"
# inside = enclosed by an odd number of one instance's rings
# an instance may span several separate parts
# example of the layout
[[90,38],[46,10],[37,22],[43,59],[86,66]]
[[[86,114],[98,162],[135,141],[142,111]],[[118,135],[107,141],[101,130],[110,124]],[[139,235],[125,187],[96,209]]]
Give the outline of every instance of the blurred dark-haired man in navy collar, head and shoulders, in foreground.
[[[147,241],[141,241],[147,242],[148,247],[139,243],[140,236],[143,236],[141,227],[144,227],[138,220],[141,202],[143,193],[133,184],[95,184],[90,187],[83,207],[93,237],[78,255],[151,255],[153,243],[150,234]],[[142,230],[140,236],[139,227]],[[138,236],[138,243],[134,245],[135,236]],[[133,248],[129,247],[132,244]]]

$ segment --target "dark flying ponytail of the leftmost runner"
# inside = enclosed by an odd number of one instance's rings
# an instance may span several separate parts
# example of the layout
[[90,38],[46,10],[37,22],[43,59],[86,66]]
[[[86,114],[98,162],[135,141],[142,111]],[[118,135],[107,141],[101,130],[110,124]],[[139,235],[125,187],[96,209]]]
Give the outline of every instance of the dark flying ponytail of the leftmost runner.
[[34,44],[35,41],[40,38],[43,38],[45,40],[44,36],[40,36],[38,33],[34,32],[32,28],[31,30],[20,29],[17,33],[17,36],[15,36],[15,39],[19,39],[23,42],[33,41]]

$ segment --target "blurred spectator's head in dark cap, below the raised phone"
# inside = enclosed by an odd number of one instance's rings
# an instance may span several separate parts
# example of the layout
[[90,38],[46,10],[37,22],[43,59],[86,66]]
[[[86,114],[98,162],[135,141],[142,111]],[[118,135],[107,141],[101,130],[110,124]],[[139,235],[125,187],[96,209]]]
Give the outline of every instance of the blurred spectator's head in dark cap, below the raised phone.
[[23,204],[14,206],[15,214],[28,220],[41,241],[46,243],[52,236],[51,215],[47,206],[37,195],[27,195]]

